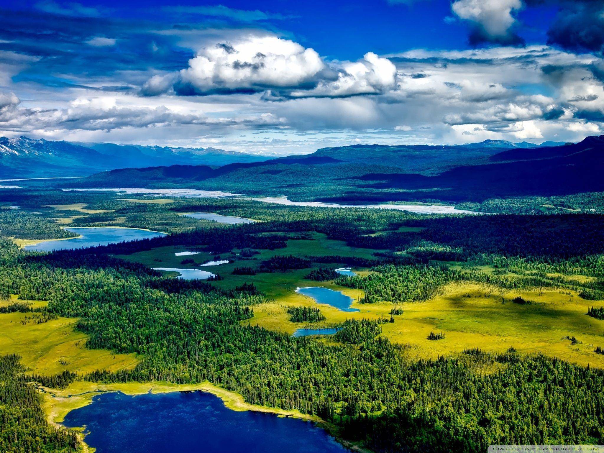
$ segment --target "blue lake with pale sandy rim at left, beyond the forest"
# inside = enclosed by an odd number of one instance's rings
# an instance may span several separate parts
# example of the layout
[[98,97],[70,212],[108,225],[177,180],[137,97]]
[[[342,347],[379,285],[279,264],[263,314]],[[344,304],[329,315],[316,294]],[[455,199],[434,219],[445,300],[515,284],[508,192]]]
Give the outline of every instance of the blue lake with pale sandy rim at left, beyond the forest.
[[62,240],[45,240],[38,242],[37,244],[26,245],[24,249],[38,252],[50,252],[53,250],[86,248],[129,240],[165,236],[165,233],[159,233],[159,231],[139,230],[138,228],[95,227],[65,228],[65,230],[77,233],[80,237]]

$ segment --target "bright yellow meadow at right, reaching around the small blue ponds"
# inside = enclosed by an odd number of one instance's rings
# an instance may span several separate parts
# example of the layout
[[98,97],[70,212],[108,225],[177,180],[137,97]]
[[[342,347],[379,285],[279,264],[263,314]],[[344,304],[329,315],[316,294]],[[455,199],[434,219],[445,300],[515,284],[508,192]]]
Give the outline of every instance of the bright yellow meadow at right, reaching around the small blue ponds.
[[[274,274],[271,274],[274,275]],[[342,312],[319,304],[285,288],[274,291],[275,301],[254,307],[254,317],[245,321],[284,333],[300,327],[321,327],[347,319],[390,319],[391,303],[359,304],[361,291],[338,288],[333,282],[304,286],[324,286],[336,289],[355,300],[352,307],[360,312]],[[516,304],[515,297],[534,301]],[[502,298],[506,303],[502,303]],[[594,304],[569,291],[500,291],[491,286],[474,283],[450,283],[443,294],[431,300],[399,304],[402,315],[394,323],[382,324],[382,335],[394,343],[405,345],[409,358],[438,358],[458,355],[464,349],[480,348],[486,352],[503,353],[514,347],[519,353],[544,353],[580,365],[604,368],[604,356],[594,353],[604,346],[604,321],[586,315]],[[291,323],[288,306],[318,306],[326,316],[321,323]],[[430,332],[443,332],[445,339],[429,340]],[[576,337],[571,344],[565,336]]]

